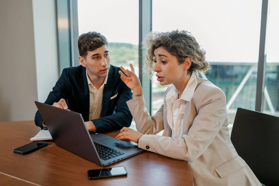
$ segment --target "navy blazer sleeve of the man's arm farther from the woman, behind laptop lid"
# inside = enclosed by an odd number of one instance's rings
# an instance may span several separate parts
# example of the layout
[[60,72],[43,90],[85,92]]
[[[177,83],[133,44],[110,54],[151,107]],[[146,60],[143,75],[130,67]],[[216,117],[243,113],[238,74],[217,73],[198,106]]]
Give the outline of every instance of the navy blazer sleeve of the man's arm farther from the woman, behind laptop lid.
[[[58,102],[61,98],[67,100],[69,85],[66,73],[66,70],[63,69],[61,76],[59,77],[55,86],[52,88],[52,91],[48,94],[48,97],[44,103],[52,105],[54,102]],[[43,118],[38,110],[35,114],[34,121],[35,124],[39,126],[42,130],[43,126],[41,125],[41,123],[43,121]]]

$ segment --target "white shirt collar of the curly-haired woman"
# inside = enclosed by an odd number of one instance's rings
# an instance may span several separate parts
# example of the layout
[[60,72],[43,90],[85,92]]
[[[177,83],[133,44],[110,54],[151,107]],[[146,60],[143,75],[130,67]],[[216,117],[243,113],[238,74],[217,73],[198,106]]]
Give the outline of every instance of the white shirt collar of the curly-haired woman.
[[[190,101],[191,98],[194,95],[196,86],[197,86],[198,82],[197,82],[197,77],[195,73],[192,73],[186,87],[184,88],[184,91],[182,92],[181,95],[181,99],[186,100],[186,101]],[[175,86],[172,86],[171,89],[169,90],[169,92],[166,95],[167,97],[171,97],[173,101],[177,100],[178,98],[178,92],[175,88]]]

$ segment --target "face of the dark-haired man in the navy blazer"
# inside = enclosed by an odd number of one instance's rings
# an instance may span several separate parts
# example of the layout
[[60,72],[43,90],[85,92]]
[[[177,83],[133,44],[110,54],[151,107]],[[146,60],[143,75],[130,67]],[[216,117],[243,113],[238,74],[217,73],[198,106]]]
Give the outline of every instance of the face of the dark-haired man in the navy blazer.
[[80,63],[87,69],[91,80],[102,79],[107,76],[110,68],[110,54],[107,45],[103,45],[93,51],[88,51],[86,58],[79,57]]

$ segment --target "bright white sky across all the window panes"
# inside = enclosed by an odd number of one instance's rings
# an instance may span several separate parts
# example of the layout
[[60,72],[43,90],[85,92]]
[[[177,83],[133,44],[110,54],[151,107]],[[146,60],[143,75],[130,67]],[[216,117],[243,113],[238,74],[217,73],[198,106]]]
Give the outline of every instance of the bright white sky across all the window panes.
[[[261,0],[153,0],[153,31],[188,30],[208,61],[258,61]],[[279,1],[270,1],[267,61],[278,62]],[[79,33],[138,44],[138,0],[78,0]]]

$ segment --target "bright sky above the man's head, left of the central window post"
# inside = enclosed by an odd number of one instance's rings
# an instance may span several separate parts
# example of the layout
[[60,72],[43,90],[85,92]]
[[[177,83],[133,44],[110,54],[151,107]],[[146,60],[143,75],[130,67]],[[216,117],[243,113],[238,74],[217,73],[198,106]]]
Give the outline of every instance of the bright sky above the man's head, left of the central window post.
[[78,0],[79,33],[98,31],[109,42],[139,43],[137,0]]

